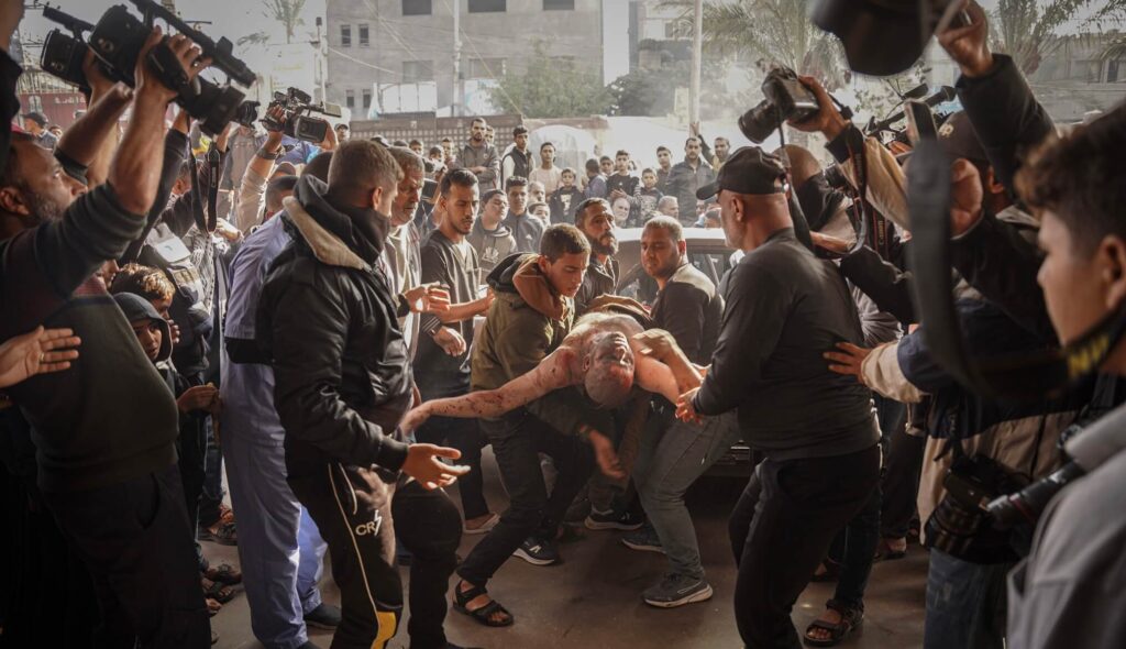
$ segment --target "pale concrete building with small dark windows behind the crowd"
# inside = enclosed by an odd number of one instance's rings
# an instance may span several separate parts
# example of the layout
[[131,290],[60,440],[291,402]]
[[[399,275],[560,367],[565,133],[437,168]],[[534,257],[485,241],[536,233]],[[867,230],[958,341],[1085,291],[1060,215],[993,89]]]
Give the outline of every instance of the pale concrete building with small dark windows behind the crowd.
[[620,50],[606,42],[628,38],[625,18],[613,20],[619,27],[604,18],[619,15],[604,7],[617,3],[625,1],[327,0],[327,97],[358,119],[480,107],[474,92],[506,71],[520,71],[537,39],[548,56],[602,71],[604,53]]

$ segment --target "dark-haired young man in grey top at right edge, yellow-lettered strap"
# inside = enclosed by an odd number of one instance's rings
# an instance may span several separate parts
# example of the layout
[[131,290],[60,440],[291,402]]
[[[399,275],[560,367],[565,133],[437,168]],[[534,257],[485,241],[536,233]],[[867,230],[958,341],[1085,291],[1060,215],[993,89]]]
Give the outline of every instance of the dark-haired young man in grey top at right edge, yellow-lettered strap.
[[[1043,219],[1038,281],[1060,340],[1070,344],[1121,312],[1126,296],[1126,205],[1121,152],[1126,109],[1047,143],[1017,174]],[[1126,374],[1120,338],[1098,371]],[[1121,417],[1119,407],[1107,417]],[[1111,448],[1108,448],[1111,451]],[[1126,635],[1126,453],[1065,488],[1040,517],[1031,553],[1009,579],[1013,647],[1119,647]]]

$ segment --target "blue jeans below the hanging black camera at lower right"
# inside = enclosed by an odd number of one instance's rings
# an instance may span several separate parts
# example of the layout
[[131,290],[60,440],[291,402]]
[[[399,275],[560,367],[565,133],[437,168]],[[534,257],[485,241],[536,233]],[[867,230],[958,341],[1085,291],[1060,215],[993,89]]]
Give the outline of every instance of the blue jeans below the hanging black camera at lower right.
[[969,563],[930,551],[923,649],[1001,649],[1013,563]]

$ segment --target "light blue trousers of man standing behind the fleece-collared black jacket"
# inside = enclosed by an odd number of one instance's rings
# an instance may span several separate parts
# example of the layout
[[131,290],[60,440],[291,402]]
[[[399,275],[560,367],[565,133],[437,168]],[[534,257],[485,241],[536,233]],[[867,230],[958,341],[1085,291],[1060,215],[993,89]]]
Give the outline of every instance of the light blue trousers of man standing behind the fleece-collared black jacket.
[[309,640],[305,614],[321,604],[328,549],[286,483],[285,448],[234,426],[223,432],[231,504],[239,516],[239,561],[250,626],[270,649]]

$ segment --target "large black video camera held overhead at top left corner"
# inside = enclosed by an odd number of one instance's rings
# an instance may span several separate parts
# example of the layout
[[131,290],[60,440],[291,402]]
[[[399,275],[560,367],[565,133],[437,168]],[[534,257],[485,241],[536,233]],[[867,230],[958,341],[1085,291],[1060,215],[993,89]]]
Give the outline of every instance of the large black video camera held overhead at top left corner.
[[[198,119],[200,128],[211,135],[222,132],[232,121],[245,126],[252,125],[258,116],[258,103],[244,101],[245,95],[230,81],[250,86],[254,82],[254,73],[234,57],[231,42],[226,38],[221,38],[218,43],[212,41],[152,0],[129,1],[141,10],[143,21],[129,14],[124,5],[110,7],[97,25],[90,25],[53,7],[45,7],[43,17],[62,25],[71,34],[60,29],[47,34],[41,66],[88,92],[90,85],[82,63],[87,52],[93,51],[107,77],[135,87],[137,57],[152,32],[153,20],[160,18],[196,43],[202,50],[202,56],[212,59],[212,65],[229,79],[223,86],[200,77],[189,81],[187,72],[176,60],[167,42],[162,43],[149,53],[148,64],[163,83],[178,92],[176,103]],[[87,32],[90,33],[89,38],[83,41],[82,35]]]

